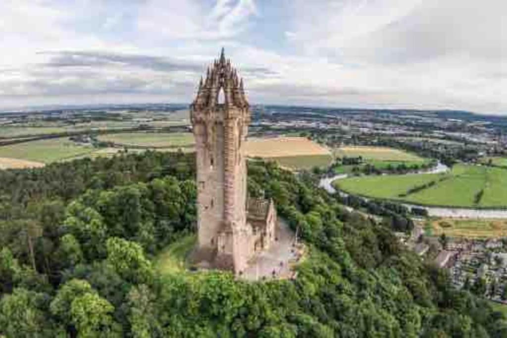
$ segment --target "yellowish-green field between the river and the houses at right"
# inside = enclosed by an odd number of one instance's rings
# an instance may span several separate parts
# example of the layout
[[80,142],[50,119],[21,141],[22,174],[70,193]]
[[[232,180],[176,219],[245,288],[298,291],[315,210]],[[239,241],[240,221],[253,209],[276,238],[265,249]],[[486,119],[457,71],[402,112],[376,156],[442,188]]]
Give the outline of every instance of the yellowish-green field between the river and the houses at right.
[[507,236],[506,219],[440,218],[431,221],[434,236],[445,233],[450,237],[499,238]]

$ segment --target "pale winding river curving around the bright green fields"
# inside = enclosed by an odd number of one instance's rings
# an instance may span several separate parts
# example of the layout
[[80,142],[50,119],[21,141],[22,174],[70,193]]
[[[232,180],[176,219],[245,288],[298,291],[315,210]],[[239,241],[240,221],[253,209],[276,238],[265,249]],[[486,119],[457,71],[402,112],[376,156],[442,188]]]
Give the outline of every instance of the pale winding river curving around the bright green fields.
[[[436,167],[419,172],[407,173],[405,175],[414,175],[414,174],[438,174],[442,172],[449,171],[449,167],[445,164],[438,163]],[[347,196],[344,192],[338,192],[333,186],[333,181],[337,179],[347,178],[347,174],[340,174],[333,177],[324,177],[319,181],[318,186],[323,188],[330,194],[339,193],[342,196]],[[368,200],[367,198],[364,198]],[[498,209],[473,209],[473,208],[449,208],[449,207],[427,207],[424,205],[416,205],[416,204],[408,204],[401,203],[407,208],[422,208],[428,211],[429,216],[437,216],[437,217],[454,217],[454,218],[507,218],[507,210],[498,210]]]

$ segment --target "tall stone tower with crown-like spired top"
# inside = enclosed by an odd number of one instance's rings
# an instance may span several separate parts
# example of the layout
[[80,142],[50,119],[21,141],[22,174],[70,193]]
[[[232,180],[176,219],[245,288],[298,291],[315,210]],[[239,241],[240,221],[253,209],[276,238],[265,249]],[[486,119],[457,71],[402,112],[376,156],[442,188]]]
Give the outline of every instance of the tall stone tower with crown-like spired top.
[[246,212],[250,109],[224,49],[206,80],[201,78],[190,116],[197,153],[198,259],[241,273],[254,251]]

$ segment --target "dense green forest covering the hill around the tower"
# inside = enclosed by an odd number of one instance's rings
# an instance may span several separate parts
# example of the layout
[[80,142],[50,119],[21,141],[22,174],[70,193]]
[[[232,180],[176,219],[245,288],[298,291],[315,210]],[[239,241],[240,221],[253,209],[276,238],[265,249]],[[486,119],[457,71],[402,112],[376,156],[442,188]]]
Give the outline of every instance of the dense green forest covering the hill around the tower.
[[273,198],[309,248],[295,280],[153,268],[195,232],[193,154],[0,171],[0,336],[507,336],[503,314],[311,174],[258,161],[248,174],[249,193]]

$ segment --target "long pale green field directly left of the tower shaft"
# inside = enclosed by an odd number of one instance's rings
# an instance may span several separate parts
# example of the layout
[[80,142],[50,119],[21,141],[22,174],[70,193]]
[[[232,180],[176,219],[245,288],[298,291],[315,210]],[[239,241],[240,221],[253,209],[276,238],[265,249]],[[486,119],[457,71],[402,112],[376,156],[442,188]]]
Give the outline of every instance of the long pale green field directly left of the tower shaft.
[[123,146],[154,148],[185,147],[194,144],[192,133],[118,133],[100,135],[98,139]]

